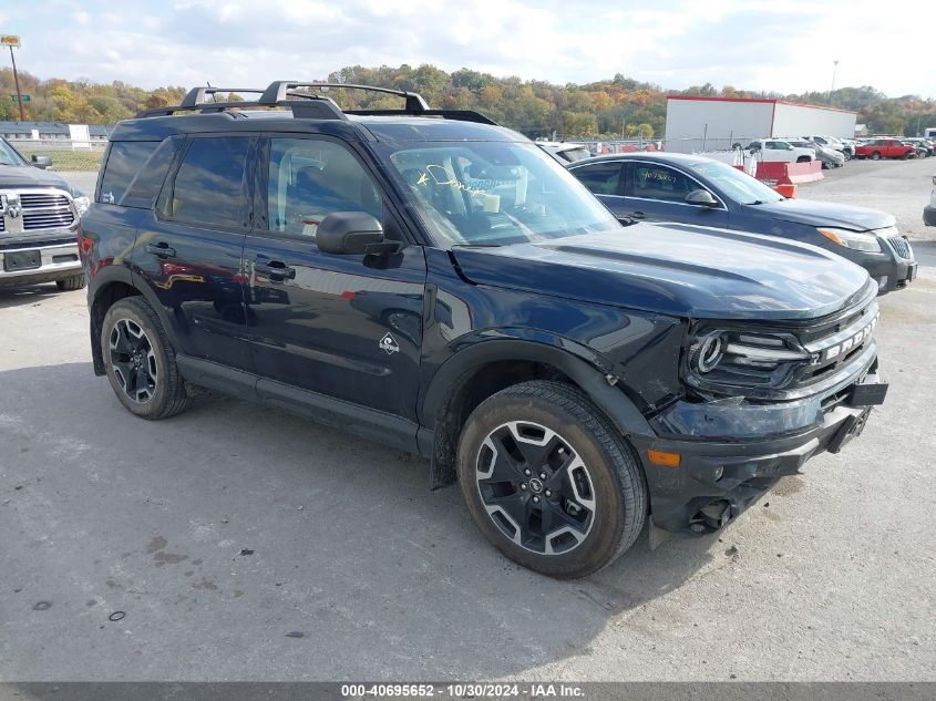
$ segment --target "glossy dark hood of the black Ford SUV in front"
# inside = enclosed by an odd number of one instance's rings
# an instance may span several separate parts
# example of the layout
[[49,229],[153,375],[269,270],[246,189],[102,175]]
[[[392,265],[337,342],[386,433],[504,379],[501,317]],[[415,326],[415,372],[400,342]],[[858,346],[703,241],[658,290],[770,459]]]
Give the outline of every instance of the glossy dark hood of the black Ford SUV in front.
[[814,246],[680,224],[453,255],[479,285],[677,317],[821,317],[857,303],[871,284],[864,268]]

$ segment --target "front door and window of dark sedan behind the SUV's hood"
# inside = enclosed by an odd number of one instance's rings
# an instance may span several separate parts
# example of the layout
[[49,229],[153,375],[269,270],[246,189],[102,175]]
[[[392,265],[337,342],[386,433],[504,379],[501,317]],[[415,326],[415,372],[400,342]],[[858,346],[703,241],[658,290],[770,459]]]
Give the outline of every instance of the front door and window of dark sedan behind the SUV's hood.
[[[728,226],[722,199],[679,168],[649,161],[628,161],[624,172],[623,210],[635,219],[683,221],[700,226]],[[686,202],[686,196],[704,189],[718,200],[714,207]]]

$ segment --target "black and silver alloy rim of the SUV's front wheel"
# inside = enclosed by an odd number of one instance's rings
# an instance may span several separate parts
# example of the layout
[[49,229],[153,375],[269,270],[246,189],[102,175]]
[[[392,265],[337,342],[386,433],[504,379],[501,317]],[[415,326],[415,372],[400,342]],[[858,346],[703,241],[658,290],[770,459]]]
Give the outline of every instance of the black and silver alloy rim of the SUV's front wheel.
[[541,424],[514,421],[488,433],[475,478],[491,520],[533,553],[569,553],[595,523],[588,468],[566,439]]

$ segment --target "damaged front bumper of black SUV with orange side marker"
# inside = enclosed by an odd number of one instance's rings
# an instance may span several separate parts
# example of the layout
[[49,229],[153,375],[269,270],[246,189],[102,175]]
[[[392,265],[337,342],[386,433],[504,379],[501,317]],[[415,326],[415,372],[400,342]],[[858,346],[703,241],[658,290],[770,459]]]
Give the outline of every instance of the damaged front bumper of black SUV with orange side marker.
[[[636,441],[654,525],[696,533],[724,526],[780,477],[860,435],[886,391],[875,360],[860,381],[823,398],[780,404],[678,402],[651,420],[658,437]],[[678,455],[678,465],[656,464],[648,451]]]

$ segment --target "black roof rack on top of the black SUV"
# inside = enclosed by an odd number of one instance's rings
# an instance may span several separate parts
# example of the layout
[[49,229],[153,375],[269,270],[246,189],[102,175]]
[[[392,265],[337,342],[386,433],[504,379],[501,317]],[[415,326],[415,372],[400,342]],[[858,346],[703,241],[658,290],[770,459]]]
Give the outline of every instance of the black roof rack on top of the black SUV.
[[[402,110],[348,110],[342,112],[341,107],[326,95],[297,92],[299,87],[325,87],[341,90],[369,90],[372,92],[397,95],[405,100]],[[260,93],[257,100],[243,102],[214,102],[217,93]],[[208,97],[212,101],[208,101]],[[357,85],[352,83],[304,83],[298,81],[274,81],[267,87],[214,87],[205,85],[193,87],[186,93],[178,105],[165,107],[152,107],[137,113],[137,118],[153,116],[168,116],[176,112],[226,112],[243,107],[289,107],[292,116],[312,120],[347,120],[348,114],[376,115],[376,116],[440,116],[461,122],[476,122],[479,124],[495,124],[496,122],[477,112],[469,110],[431,110],[429,104],[419,93],[404,90],[391,90],[389,87],[377,87],[373,85]]]

